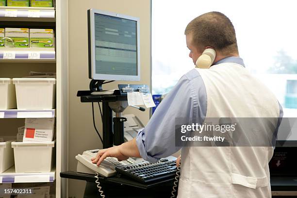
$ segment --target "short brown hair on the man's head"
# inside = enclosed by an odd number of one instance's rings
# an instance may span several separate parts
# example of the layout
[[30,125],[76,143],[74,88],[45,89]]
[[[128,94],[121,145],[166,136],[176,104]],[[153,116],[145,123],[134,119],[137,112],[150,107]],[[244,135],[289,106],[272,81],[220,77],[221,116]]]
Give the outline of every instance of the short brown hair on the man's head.
[[194,45],[200,50],[210,46],[223,55],[238,54],[234,26],[220,12],[209,12],[194,18],[184,31],[184,34],[190,33],[193,35]]

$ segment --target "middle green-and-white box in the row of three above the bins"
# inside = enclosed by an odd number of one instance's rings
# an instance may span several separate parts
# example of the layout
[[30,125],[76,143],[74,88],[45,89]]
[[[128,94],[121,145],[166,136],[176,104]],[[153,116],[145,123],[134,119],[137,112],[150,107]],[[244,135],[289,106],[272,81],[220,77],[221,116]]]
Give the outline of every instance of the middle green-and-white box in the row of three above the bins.
[[28,28],[5,28],[5,47],[8,48],[29,48],[29,29]]

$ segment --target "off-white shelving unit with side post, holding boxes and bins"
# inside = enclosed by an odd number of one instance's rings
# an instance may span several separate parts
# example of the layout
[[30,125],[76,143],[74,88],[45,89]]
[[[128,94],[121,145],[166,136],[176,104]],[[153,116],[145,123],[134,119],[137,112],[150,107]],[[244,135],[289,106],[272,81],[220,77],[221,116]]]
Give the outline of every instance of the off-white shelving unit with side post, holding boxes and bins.
[[[56,72],[56,109],[0,110],[1,123],[20,123],[23,118],[56,117],[56,164],[49,173],[16,173],[11,167],[0,173],[0,183],[53,182],[55,197],[65,198],[66,179],[60,172],[67,169],[68,130],[68,0],[55,0],[55,8],[0,7],[0,27],[47,28],[55,30],[55,49],[0,48],[0,77],[17,78],[34,71]],[[36,65],[38,64],[38,65]],[[37,68],[37,69],[36,69]],[[5,121],[5,118],[11,121]],[[1,132],[0,132],[1,135]],[[12,132],[11,135],[16,135]]]

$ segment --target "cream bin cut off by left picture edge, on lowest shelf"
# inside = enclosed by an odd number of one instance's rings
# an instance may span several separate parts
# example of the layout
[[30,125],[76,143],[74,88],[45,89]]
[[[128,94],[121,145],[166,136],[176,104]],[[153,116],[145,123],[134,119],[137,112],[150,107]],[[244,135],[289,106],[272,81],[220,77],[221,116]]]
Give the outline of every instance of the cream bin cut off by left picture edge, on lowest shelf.
[[11,148],[11,140],[0,142],[0,173],[15,164],[14,150]]

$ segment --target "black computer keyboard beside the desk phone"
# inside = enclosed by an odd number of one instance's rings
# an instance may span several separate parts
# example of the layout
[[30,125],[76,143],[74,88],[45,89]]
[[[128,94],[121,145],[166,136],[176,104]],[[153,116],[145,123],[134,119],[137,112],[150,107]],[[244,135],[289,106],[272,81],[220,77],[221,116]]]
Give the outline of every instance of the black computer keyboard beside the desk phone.
[[176,176],[176,163],[161,159],[158,163],[141,162],[131,165],[116,166],[115,170],[141,183],[159,181]]

